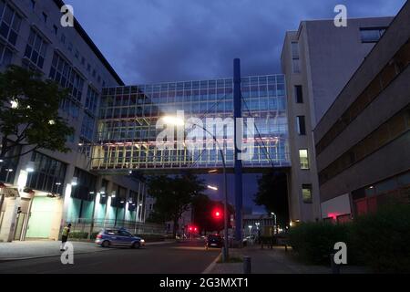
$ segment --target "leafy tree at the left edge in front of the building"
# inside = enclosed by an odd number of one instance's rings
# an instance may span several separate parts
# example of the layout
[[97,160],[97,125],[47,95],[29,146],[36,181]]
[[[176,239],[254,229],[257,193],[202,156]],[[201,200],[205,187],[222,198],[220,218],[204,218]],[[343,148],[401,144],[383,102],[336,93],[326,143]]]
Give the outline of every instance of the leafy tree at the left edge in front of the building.
[[[0,159],[12,159],[37,149],[67,152],[67,136],[74,133],[58,116],[60,101],[68,91],[59,89],[40,73],[17,66],[0,73]],[[16,147],[28,146],[15,153]]]

